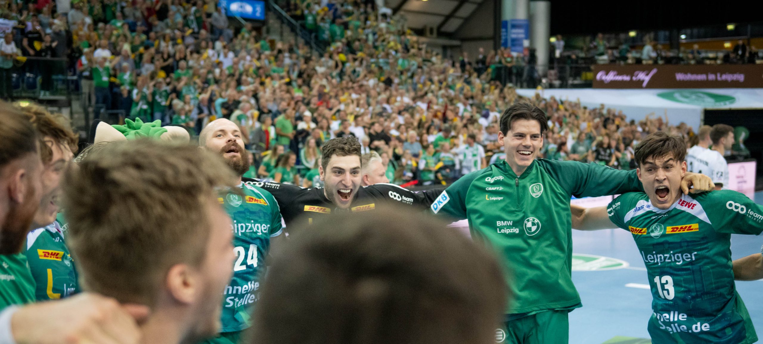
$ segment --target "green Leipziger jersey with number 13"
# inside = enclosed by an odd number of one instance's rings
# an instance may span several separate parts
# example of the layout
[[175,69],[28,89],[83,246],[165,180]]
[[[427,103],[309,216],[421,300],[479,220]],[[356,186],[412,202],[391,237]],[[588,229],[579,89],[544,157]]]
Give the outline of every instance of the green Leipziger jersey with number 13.
[[[758,340],[736,293],[731,234],[763,231],[763,206],[736,191],[681,195],[667,210],[643,192],[615,198],[607,214],[629,230],[652,289],[654,342],[752,343]],[[662,340],[660,340],[662,339]]]

